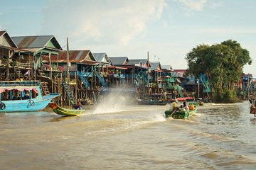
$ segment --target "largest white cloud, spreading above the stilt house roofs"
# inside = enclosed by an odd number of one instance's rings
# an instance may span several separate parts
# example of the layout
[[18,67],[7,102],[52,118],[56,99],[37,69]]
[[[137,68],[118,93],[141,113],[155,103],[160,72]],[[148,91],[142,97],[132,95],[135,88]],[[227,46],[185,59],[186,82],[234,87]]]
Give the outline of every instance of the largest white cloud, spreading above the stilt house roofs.
[[164,6],[164,0],[47,0],[42,32],[79,43],[126,45],[161,17]]

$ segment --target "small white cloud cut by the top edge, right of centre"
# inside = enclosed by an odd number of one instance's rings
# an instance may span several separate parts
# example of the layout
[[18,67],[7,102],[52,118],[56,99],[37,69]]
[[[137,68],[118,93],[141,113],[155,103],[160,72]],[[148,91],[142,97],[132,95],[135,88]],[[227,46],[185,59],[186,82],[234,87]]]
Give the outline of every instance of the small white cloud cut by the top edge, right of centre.
[[183,6],[193,11],[202,11],[208,0],[176,0]]

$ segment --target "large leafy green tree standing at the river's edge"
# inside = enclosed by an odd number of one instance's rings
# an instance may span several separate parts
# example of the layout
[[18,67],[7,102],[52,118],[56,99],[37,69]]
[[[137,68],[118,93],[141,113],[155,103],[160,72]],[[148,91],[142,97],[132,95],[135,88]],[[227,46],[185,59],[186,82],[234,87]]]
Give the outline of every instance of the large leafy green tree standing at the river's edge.
[[188,74],[205,74],[211,84],[215,102],[235,102],[234,84],[245,64],[252,64],[249,52],[235,40],[216,45],[198,45],[188,52]]

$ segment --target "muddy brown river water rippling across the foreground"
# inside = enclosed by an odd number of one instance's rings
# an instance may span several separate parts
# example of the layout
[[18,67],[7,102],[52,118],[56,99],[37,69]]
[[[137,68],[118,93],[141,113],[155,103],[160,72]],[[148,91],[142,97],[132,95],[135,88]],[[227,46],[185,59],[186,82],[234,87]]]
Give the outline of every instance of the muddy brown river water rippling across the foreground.
[[249,102],[198,106],[99,104],[77,117],[50,110],[1,113],[0,169],[256,169]]

